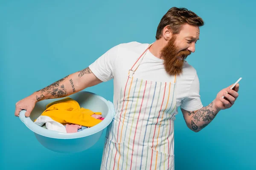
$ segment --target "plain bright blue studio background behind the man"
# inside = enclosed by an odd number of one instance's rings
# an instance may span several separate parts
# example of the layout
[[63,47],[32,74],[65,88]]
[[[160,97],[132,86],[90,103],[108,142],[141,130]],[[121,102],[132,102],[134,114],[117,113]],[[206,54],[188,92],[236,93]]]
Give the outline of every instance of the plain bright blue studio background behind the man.
[[[256,168],[255,1],[242,0],[44,0],[0,2],[0,169],[98,170],[104,135],[90,149],[54,153],[36,140],[15,103],[86,68],[123,42],[151,43],[161,17],[186,7],[205,21],[188,62],[198,72],[204,106],[223,88],[240,82],[239,98],[205,129],[194,133],[182,113],[175,120],[175,169]],[[86,89],[113,101],[113,81]],[[104,131],[105,133],[105,131]]]

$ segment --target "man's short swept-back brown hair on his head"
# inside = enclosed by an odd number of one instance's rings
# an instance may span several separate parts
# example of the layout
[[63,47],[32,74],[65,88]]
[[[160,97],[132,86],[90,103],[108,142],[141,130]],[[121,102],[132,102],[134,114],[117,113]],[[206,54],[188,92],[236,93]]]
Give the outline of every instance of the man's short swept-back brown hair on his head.
[[170,8],[157,27],[156,39],[159,40],[162,37],[162,31],[165,26],[171,28],[172,34],[179,34],[181,27],[186,23],[192,26],[204,26],[202,18],[198,17],[194,12],[186,8]]

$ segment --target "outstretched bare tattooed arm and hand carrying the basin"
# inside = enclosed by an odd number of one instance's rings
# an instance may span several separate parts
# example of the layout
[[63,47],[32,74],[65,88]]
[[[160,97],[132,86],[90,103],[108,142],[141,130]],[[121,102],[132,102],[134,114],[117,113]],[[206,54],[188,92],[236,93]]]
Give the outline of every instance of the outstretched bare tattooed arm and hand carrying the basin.
[[26,110],[25,116],[29,116],[35,107],[35,103],[41,100],[69,96],[101,82],[89,67],[84,68],[18,101],[16,103],[15,116],[18,116],[23,109]]

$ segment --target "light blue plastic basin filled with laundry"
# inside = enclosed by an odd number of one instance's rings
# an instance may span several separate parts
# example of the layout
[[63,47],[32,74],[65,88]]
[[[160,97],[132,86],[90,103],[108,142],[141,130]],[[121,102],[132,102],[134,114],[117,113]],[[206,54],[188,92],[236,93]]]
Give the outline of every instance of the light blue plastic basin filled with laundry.
[[81,108],[87,108],[93,112],[101,112],[105,118],[99,124],[77,133],[61,133],[48,130],[36,125],[33,121],[37,119],[46,109],[46,105],[58,99],[47,99],[36,103],[29,117],[26,111],[20,111],[20,120],[35,133],[35,137],[44,147],[58,153],[76,153],[93,146],[102,135],[103,130],[108,127],[114,117],[114,105],[102,96],[88,91],[79,91],[69,96],[76,100]]

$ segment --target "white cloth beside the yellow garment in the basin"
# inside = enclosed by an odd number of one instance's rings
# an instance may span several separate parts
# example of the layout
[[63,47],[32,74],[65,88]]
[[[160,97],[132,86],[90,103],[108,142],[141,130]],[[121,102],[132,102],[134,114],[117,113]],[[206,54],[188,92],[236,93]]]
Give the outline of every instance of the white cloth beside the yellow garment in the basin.
[[55,120],[52,120],[49,116],[39,116],[34,122],[38,126],[43,126],[45,124],[46,128],[49,130],[54,130],[62,133],[67,133],[66,127]]

